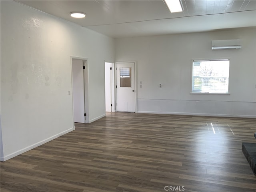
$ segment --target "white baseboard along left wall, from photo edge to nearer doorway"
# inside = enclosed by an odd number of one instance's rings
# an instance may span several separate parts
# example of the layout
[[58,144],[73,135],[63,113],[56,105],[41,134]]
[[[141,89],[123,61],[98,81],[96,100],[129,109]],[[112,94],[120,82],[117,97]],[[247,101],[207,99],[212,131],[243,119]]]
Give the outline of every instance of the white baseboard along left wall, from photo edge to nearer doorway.
[[74,128],[72,127],[72,128],[70,128],[70,129],[68,129],[68,130],[66,130],[66,131],[63,131],[63,132],[61,132],[61,133],[59,133],[59,134],[56,134],[56,135],[54,135],[54,136],[52,136],[52,137],[50,137],[50,138],[47,138],[47,139],[42,140],[42,141],[40,141],[40,142],[37,142],[37,143],[35,143],[35,144],[33,144],[33,145],[30,145],[30,146],[28,146],[28,147],[26,147],[26,148],[23,148],[23,149],[21,149],[21,150],[18,150],[18,151],[14,152],[14,153],[8,154],[8,155],[6,155],[6,156],[4,156],[4,157],[0,157],[0,161],[6,161],[6,160],[8,160],[8,159],[10,159],[10,158],[13,158],[13,157],[15,157],[15,156],[17,156],[17,155],[20,155],[20,154],[22,154],[22,153],[24,153],[24,152],[27,152],[27,151],[29,151],[29,150],[31,150],[31,149],[34,149],[34,148],[36,148],[36,147],[38,147],[38,146],[40,146],[40,145],[42,145],[42,144],[45,144],[45,143],[47,143],[47,142],[49,142],[49,141],[51,141],[51,140],[54,140],[54,139],[56,139],[56,138],[58,138],[58,137],[60,137],[60,136],[62,136],[62,135],[64,135],[64,134],[66,134],[66,133],[68,133],[68,132],[71,132],[71,131],[73,131],[73,130],[74,130]]

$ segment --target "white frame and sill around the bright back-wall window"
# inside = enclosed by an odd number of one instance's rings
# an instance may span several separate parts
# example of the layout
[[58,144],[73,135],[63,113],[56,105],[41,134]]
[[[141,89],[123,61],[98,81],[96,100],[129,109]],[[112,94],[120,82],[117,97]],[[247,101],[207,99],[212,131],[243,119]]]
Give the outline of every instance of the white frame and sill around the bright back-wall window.
[[230,58],[214,58],[214,59],[192,59],[191,60],[191,82],[190,82],[190,94],[218,94],[218,95],[230,95],[230,65],[229,65],[229,76],[228,76],[228,92],[227,93],[212,93],[212,92],[193,92],[192,87],[193,87],[193,62],[194,61],[216,61],[216,60],[229,60]]

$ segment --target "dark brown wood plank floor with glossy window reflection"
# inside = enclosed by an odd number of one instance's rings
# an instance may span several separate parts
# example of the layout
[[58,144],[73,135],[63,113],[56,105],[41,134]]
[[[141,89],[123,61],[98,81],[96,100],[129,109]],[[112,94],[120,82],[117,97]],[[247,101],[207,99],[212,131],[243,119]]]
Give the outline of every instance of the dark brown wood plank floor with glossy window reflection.
[[254,132],[250,118],[107,113],[1,162],[1,192],[256,192],[241,150]]

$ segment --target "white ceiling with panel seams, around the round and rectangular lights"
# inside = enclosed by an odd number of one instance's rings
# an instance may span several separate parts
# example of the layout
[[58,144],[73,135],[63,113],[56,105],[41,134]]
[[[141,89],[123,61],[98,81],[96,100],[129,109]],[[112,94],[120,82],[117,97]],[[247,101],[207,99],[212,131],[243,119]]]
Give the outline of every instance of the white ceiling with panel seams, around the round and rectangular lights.
[[[256,0],[181,0],[178,13],[170,13],[162,0],[18,2],[113,38],[256,26]],[[86,18],[71,18],[74,11]]]

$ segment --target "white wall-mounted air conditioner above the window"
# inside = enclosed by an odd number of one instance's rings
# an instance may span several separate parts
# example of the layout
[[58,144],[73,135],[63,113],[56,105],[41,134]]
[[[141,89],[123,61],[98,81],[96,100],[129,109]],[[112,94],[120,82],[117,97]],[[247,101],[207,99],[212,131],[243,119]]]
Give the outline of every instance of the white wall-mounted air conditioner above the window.
[[241,39],[213,40],[212,50],[220,49],[241,49]]

